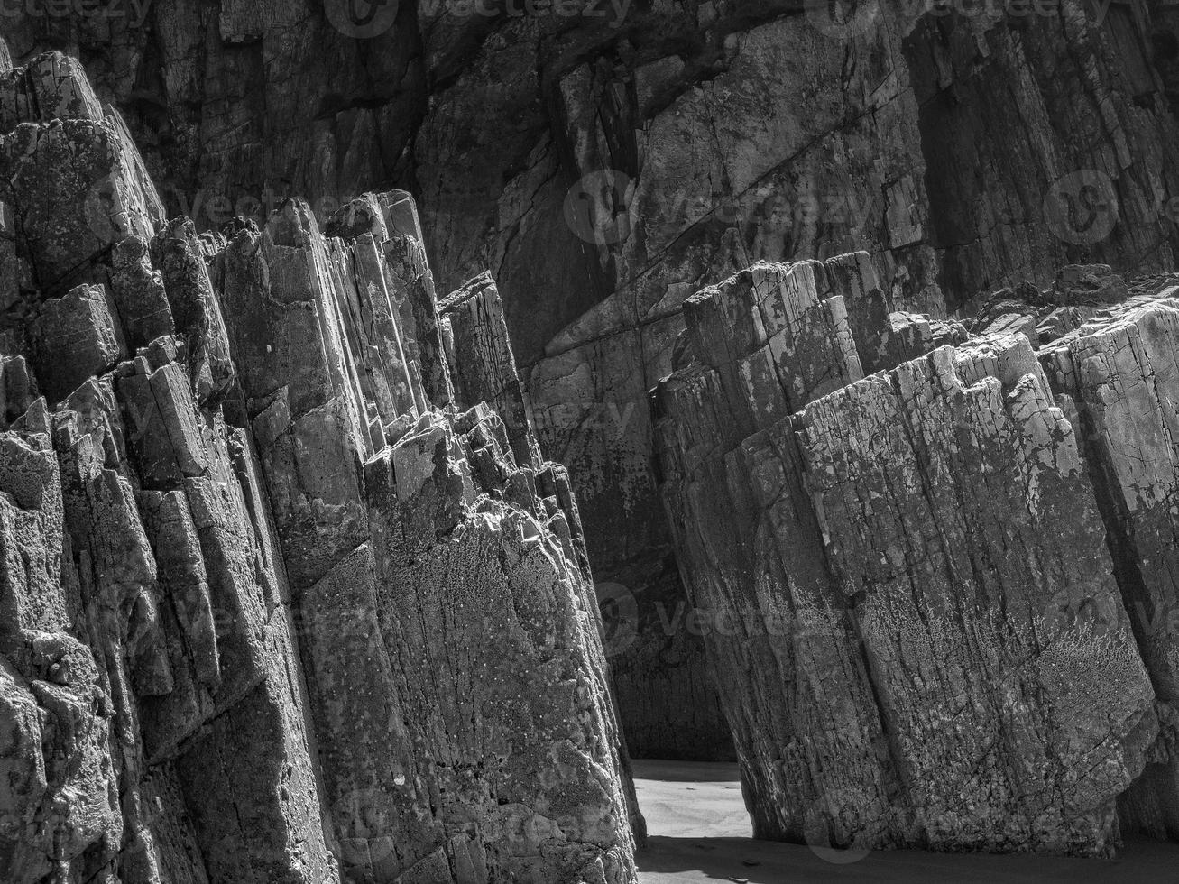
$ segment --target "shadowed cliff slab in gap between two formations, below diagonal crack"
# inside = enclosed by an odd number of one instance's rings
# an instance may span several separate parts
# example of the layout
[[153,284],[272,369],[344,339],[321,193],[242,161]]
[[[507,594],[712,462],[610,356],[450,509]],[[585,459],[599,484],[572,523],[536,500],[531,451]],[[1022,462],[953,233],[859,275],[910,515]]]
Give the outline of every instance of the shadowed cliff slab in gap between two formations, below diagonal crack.
[[732,738],[698,632],[683,628],[687,596],[651,470],[640,352],[663,352],[678,317],[569,345],[525,369],[541,450],[569,468],[606,618],[627,744],[644,758],[732,758]]

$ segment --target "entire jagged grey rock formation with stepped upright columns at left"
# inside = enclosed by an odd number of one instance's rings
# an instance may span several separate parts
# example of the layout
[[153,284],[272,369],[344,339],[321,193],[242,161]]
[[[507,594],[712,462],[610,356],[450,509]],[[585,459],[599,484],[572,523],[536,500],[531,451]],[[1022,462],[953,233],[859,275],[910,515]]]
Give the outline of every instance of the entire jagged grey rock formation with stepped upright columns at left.
[[0,878],[633,880],[568,476],[407,194],[198,236],[70,59],[0,121]]

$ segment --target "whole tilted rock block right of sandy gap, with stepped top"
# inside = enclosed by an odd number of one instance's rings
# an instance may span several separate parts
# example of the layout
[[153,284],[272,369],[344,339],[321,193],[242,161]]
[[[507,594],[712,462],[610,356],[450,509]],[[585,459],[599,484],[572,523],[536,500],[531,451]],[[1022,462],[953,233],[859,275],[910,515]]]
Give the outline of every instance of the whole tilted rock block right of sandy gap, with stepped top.
[[821,277],[689,299],[694,361],[657,394],[756,830],[1108,852],[1167,740],[1079,434],[1023,336],[863,377]]

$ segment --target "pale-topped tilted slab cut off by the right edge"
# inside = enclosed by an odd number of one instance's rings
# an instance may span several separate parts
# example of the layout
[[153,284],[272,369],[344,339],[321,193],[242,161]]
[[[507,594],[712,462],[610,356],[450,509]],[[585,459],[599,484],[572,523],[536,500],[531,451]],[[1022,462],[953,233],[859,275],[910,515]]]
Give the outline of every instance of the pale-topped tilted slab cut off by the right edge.
[[1164,297],[1119,305],[1040,354],[1074,407],[1118,582],[1159,698],[1159,739],[1122,796],[1122,822],[1170,838],[1179,838],[1177,348],[1179,301]]

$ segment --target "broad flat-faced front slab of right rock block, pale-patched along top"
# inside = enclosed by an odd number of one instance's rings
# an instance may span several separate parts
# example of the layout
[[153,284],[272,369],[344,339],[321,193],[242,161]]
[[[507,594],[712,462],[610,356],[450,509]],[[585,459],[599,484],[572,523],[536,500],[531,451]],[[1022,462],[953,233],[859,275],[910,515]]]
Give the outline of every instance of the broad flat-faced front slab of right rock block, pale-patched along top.
[[1072,427],[1023,336],[940,348],[796,418],[908,837],[1102,855],[1157,728]]

